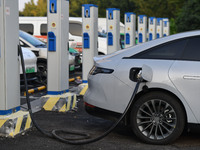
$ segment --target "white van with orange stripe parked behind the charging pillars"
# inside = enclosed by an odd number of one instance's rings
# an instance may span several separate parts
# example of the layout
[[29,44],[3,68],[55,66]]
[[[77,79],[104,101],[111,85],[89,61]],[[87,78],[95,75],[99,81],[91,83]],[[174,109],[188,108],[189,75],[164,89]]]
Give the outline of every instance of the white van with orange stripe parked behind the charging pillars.
[[[19,17],[19,27],[37,38],[47,41],[47,17]],[[106,18],[99,18],[99,32],[106,32]],[[120,23],[120,32],[124,32],[124,25]],[[107,39],[98,37],[98,51],[107,54]],[[69,47],[82,51],[82,18],[69,17]]]

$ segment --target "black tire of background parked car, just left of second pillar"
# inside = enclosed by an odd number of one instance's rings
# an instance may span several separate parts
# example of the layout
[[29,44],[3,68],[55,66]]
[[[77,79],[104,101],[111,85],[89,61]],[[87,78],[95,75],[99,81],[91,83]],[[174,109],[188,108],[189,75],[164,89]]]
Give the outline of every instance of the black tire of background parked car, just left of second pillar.
[[41,61],[37,63],[37,77],[40,83],[47,84],[47,62]]

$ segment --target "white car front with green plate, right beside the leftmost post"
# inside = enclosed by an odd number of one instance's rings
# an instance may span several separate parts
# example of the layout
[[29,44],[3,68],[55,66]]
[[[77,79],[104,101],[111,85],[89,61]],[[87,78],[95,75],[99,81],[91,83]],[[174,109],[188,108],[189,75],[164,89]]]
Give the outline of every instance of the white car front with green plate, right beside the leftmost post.
[[[22,54],[24,57],[24,64],[25,64],[25,71],[26,76],[28,80],[36,80],[36,74],[37,74],[37,57],[35,54],[27,49],[22,47]],[[20,58],[21,59],[21,58]],[[22,66],[21,66],[21,60],[20,60],[20,80],[23,81],[23,72],[22,72]]]

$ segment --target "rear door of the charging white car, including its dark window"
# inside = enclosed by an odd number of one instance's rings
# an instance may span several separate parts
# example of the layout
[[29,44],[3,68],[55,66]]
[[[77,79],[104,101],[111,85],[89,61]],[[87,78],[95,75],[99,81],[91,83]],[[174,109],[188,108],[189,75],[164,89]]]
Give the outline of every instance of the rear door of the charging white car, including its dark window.
[[170,68],[169,77],[200,123],[200,36],[188,38],[182,57]]

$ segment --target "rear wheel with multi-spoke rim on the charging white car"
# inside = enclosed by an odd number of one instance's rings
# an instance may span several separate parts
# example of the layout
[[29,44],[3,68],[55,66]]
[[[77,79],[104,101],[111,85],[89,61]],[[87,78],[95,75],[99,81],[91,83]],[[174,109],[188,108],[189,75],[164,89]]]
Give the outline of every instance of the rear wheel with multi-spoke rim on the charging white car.
[[181,135],[186,116],[175,97],[164,92],[151,92],[135,102],[130,117],[132,131],[139,139],[161,145],[169,144]]

